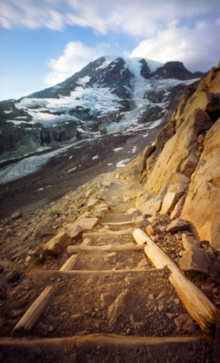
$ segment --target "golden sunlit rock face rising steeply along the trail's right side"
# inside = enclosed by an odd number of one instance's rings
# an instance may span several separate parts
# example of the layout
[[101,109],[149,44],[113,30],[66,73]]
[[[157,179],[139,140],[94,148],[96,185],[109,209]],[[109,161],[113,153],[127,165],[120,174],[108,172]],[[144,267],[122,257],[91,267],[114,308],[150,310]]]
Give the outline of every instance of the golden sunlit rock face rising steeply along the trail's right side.
[[195,90],[185,90],[155,139],[155,151],[148,158],[143,154],[146,191],[136,201],[140,211],[168,213],[175,224],[181,217],[196,240],[208,240],[215,249],[220,249],[219,92],[220,68],[211,69]]

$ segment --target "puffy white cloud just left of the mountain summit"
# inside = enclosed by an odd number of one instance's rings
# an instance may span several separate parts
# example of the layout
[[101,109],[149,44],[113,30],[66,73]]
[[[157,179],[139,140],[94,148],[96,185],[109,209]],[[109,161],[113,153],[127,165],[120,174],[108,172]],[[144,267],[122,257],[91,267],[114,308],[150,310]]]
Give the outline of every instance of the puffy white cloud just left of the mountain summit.
[[66,45],[64,54],[48,63],[51,72],[45,76],[47,86],[55,85],[75,72],[80,71],[86,64],[107,53],[108,44],[97,44],[90,48],[81,42],[70,42]]

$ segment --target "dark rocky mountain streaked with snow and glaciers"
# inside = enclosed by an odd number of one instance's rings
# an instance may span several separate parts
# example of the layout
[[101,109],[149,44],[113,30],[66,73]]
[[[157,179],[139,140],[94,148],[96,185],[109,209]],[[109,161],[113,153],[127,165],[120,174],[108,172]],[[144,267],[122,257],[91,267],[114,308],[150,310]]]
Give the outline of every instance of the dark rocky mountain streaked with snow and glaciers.
[[[111,141],[114,152],[114,146],[123,147],[125,140],[138,135],[141,139],[133,150],[141,152],[146,141],[153,141],[153,131],[168,121],[185,86],[201,75],[190,73],[179,62],[108,56],[63,83],[1,102],[0,183],[35,172],[86,142],[96,146]],[[72,171],[79,166],[78,162],[71,165]]]

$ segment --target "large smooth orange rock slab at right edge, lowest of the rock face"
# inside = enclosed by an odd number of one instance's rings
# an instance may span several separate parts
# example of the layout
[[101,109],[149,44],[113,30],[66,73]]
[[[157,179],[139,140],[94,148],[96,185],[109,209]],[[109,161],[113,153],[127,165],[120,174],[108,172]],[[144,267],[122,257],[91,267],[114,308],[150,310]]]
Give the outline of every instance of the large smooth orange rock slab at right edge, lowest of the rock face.
[[206,133],[181,217],[191,221],[200,240],[220,249],[220,119]]

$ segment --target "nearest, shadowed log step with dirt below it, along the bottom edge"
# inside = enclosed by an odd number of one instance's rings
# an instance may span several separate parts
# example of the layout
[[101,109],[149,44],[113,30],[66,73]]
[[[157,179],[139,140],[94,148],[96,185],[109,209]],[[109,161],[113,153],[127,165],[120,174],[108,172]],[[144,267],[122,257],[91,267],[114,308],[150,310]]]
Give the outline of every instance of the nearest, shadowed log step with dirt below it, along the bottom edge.
[[147,362],[214,363],[210,343],[201,337],[136,337],[114,334],[69,338],[5,338],[1,356],[7,363],[30,362]]

